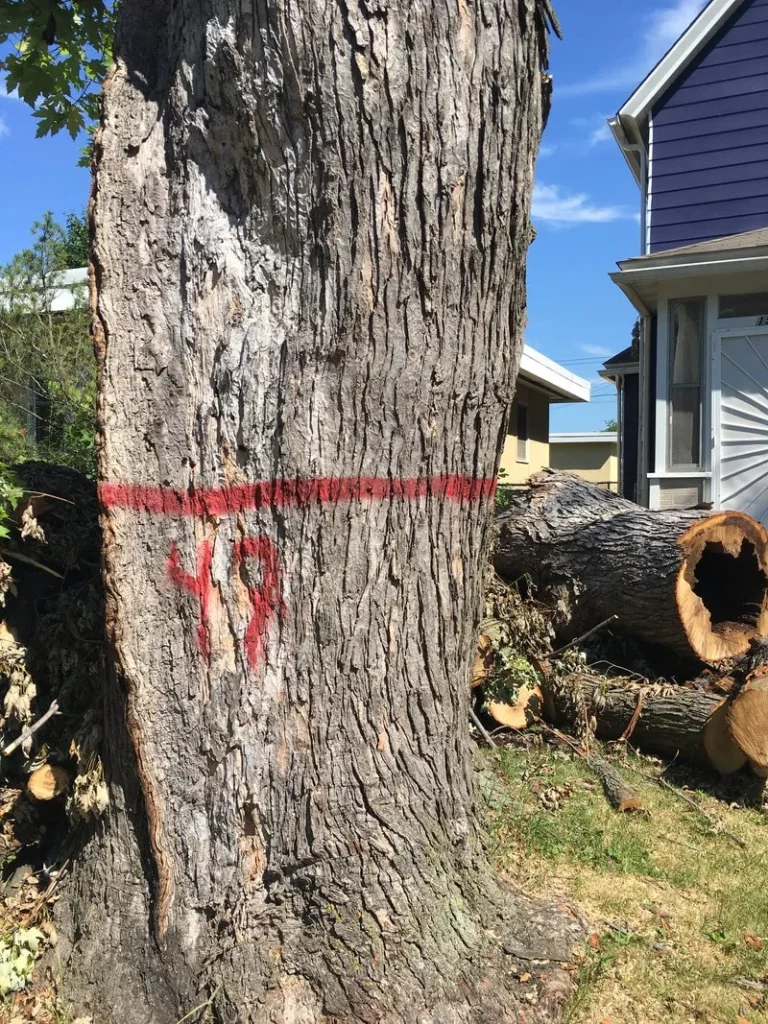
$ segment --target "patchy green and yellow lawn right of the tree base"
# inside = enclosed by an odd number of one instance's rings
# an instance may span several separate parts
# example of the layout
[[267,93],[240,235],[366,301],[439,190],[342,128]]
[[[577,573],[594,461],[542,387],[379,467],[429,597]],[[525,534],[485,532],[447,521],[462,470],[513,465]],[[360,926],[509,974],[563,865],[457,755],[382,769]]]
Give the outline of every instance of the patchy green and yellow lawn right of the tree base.
[[690,807],[646,777],[658,775],[655,763],[635,757],[621,765],[645,809],[633,815],[610,808],[577,756],[506,750],[485,764],[498,867],[530,892],[570,900],[597,936],[569,1024],[735,1024],[739,1016],[768,1024],[765,995],[735,983],[768,983],[762,811],[706,790],[687,793],[699,804]]

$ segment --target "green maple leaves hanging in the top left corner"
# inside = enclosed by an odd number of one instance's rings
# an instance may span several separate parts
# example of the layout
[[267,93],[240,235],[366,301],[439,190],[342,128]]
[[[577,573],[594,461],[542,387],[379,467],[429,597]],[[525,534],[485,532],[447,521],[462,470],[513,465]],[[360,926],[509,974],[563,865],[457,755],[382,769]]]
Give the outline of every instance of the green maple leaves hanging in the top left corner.
[[5,87],[34,110],[37,134],[73,138],[98,115],[100,86],[112,58],[111,0],[3,0],[0,59]]

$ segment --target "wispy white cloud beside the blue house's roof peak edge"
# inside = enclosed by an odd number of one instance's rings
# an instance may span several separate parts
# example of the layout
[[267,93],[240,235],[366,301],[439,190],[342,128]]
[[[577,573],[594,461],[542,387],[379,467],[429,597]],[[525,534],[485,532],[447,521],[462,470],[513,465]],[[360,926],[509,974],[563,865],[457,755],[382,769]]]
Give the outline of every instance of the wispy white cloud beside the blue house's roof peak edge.
[[707,3],[708,0],[673,0],[664,7],[657,7],[643,17],[634,56],[584,82],[559,88],[556,86],[556,94],[587,96],[616,89],[634,89],[677,42]]

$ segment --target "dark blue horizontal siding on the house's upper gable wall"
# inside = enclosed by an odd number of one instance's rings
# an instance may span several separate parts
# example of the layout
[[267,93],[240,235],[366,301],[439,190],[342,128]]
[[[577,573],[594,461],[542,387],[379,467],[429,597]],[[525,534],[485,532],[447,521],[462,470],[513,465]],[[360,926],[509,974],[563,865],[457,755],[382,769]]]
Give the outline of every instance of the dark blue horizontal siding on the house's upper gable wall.
[[768,226],[768,0],[746,0],[651,118],[650,251]]

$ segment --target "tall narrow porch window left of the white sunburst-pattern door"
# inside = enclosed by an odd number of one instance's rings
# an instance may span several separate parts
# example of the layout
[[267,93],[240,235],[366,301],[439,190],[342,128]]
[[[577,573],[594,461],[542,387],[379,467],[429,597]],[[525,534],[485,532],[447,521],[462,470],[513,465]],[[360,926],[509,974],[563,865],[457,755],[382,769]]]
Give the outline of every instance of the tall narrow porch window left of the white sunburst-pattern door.
[[707,304],[679,299],[670,304],[670,468],[701,463],[701,353]]

